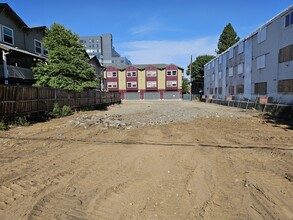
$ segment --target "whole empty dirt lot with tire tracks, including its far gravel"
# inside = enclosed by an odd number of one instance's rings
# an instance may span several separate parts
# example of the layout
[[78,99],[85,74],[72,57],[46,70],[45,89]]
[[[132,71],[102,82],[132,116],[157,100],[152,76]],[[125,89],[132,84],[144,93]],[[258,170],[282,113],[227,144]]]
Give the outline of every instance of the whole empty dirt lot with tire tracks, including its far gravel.
[[0,131],[0,219],[293,219],[293,130],[128,102]]

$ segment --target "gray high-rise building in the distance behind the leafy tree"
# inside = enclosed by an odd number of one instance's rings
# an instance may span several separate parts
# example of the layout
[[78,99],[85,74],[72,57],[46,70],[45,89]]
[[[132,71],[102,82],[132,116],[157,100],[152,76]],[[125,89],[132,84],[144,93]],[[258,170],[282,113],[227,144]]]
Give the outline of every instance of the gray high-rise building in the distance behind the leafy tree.
[[103,66],[131,65],[131,62],[126,57],[121,57],[113,47],[112,34],[84,36],[80,37],[80,42],[89,56],[96,56]]

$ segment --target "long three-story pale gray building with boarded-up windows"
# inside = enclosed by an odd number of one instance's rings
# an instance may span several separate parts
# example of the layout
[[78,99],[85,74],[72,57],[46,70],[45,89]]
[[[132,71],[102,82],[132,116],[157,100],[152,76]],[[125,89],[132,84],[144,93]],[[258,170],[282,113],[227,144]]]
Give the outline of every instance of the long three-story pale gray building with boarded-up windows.
[[207,63],[204,94],[293,104],[293,5]]

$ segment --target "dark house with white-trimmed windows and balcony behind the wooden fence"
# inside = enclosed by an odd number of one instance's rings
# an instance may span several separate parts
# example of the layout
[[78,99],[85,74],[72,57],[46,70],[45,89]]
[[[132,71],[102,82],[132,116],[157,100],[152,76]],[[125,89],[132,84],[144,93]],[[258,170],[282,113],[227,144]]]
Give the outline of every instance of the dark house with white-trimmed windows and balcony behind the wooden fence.
[[31,67],[46,60],[46,27],[28,27],[6,3],[0,3],[0,84],[31,85]]

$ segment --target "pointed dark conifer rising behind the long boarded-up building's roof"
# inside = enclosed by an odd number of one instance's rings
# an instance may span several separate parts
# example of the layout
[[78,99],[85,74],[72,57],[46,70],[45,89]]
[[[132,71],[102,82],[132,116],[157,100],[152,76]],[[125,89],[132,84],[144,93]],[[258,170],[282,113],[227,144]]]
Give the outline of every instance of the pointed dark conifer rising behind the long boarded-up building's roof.
[[216,50],[216,53],[221,54],[238,41],[239,37],[237,36],[237,33],[235,32],[232,25],[228,23],[220,36],[218,50]]

